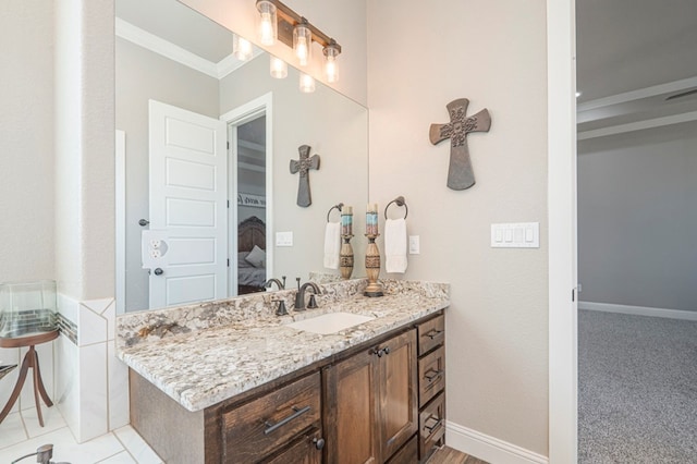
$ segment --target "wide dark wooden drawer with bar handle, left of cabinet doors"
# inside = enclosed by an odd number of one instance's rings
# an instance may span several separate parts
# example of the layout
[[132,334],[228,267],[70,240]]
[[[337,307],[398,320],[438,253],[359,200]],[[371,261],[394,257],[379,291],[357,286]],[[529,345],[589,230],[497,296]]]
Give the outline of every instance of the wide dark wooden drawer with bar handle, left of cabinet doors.
[[281,387],[222,415],[224,462],[249,463],[319,426],[319,373]]

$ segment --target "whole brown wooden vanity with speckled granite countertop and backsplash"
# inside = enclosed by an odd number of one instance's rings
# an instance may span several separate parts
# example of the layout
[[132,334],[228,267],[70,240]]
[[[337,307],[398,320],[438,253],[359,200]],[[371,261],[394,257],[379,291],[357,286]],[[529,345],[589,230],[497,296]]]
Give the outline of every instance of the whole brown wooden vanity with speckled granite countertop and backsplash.
[[119,316],[132,426],[168,463],[425,462],[444,443],[449,286],[366,283],[289,316],[294,291]]

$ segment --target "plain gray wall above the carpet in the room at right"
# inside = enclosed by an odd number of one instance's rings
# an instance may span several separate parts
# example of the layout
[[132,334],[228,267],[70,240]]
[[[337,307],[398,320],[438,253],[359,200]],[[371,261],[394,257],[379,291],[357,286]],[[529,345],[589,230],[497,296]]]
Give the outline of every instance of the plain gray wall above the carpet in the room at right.
[[580,300],[697,310],[697,123],[578,144]]

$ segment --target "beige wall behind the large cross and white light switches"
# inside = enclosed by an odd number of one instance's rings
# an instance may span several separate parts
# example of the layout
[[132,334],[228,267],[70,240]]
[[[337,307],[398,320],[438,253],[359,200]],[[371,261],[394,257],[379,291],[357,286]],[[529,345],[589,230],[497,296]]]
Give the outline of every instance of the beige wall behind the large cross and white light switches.
[[[368,50],[371,200],[406,198],[421,254],[404,277],[452,285],[448,419],[547,455],[546,3],[369,1]],[[428,130],[461,97],[492,123],[468,137],[476,185],[455,192]],[[489,247],[492,222],[524,221],[539,249]]]

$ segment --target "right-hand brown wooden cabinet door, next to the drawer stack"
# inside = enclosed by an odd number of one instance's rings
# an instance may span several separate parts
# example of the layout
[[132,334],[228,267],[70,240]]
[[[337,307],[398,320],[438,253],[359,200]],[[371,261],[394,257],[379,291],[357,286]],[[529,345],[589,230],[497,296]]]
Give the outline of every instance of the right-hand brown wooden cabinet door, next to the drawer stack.
[[387,460],[418,430],[416,331],[381,343],[380,350],[380,438]]

